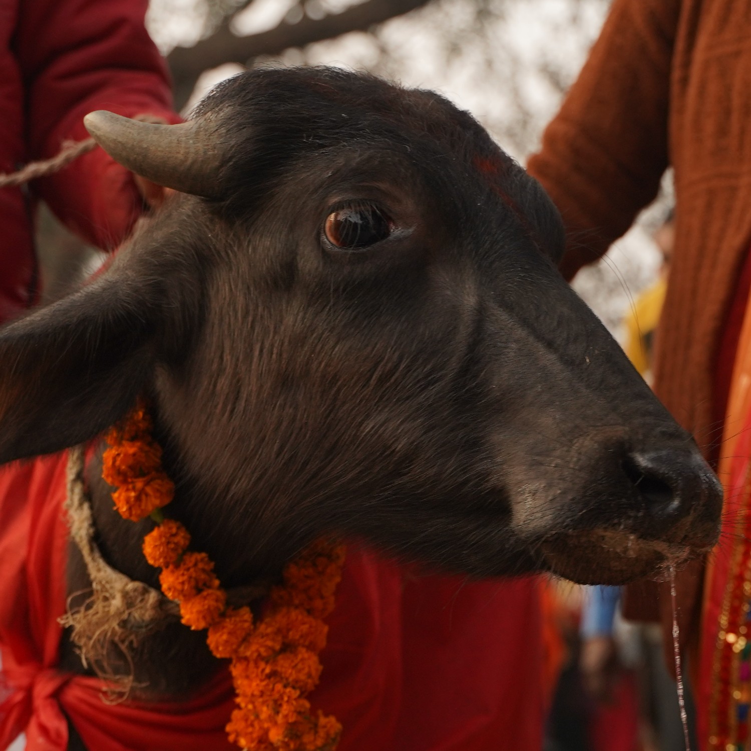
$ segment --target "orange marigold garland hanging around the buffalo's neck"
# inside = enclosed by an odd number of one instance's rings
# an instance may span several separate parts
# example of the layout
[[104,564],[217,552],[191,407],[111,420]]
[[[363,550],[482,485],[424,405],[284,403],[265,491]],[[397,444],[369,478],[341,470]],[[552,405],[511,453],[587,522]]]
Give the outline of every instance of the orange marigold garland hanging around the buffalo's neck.
[[134,521],[151,516],[158,525],[143,539],[143,553],[161,569],[162,592],[179,602],[182,623],[208,629],[216,657],[231,659],[237,709],[227,725],[230,740],[253,751],[333,751],[341,725],[314,713],[305,697],[321,675],[318,653],[328,630],[322,619],[333,610],[344,547],[319,541],[289,563],[264,619],[254,623],[250,608],[228,607],[209,556],[188,550],[188,530],[159,511],[174,485],[143,402],[107,433],[107,443],[102,475],[116,487],[117,510]]

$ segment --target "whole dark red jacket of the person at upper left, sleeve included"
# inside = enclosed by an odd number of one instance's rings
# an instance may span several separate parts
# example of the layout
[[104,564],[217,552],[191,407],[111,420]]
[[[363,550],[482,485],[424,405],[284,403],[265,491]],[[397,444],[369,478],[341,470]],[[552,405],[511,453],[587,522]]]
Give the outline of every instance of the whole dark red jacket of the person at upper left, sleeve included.
[[[143,26],[147,0],[0,0],[0,173],[83,140],[83,116],[173,118],[164,63]],[[30,195],[30,193],[32,195]],[[101,149],[30,192],[0,189],[0,322],[36,299],[38,196],[76,234],[116,246],[140,211],[130,174]]]

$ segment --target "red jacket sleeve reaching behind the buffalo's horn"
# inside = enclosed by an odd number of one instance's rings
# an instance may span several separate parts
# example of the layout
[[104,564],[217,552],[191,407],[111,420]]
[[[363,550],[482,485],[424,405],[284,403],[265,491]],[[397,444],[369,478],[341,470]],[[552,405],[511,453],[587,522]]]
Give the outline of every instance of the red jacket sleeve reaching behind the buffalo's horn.
[[[56,154],[88,134],[83,116],[113,110],[170,122],[164,62],[143,25],[147,0],[22,0],[16,54],[26,90],[27,155]],[[80,237],[112,248],[142,203],[132,176],[101,149],[40,180],[36,191]]]

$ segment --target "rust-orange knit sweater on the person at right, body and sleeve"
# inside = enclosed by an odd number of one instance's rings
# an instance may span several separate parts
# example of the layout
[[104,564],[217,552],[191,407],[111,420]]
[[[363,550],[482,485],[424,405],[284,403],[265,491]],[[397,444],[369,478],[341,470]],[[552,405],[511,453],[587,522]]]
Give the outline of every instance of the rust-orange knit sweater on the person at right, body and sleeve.
[[671,164],[676,245],[655,391],[707,447],[722,325],[751,246],[751,0],[615,0],[529,160],[569,230],[569,278],[608,249]]

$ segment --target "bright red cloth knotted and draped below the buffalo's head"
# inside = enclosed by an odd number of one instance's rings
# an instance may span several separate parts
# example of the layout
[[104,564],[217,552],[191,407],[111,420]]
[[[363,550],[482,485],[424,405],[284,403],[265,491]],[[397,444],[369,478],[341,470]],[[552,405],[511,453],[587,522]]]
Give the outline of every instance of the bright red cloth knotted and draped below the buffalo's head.
[[[67,454],[0,469],[0,749],[64,751],[68,719],[92,751],[229,751],[222,670],[190,701],[105,704],[101,681],[57,669],[65,611]],[[339,751],[541,747],[538,582],[424,576],[356,544],[328,619],[314,707]],[[66,719],[68,718],[68,719]]]

